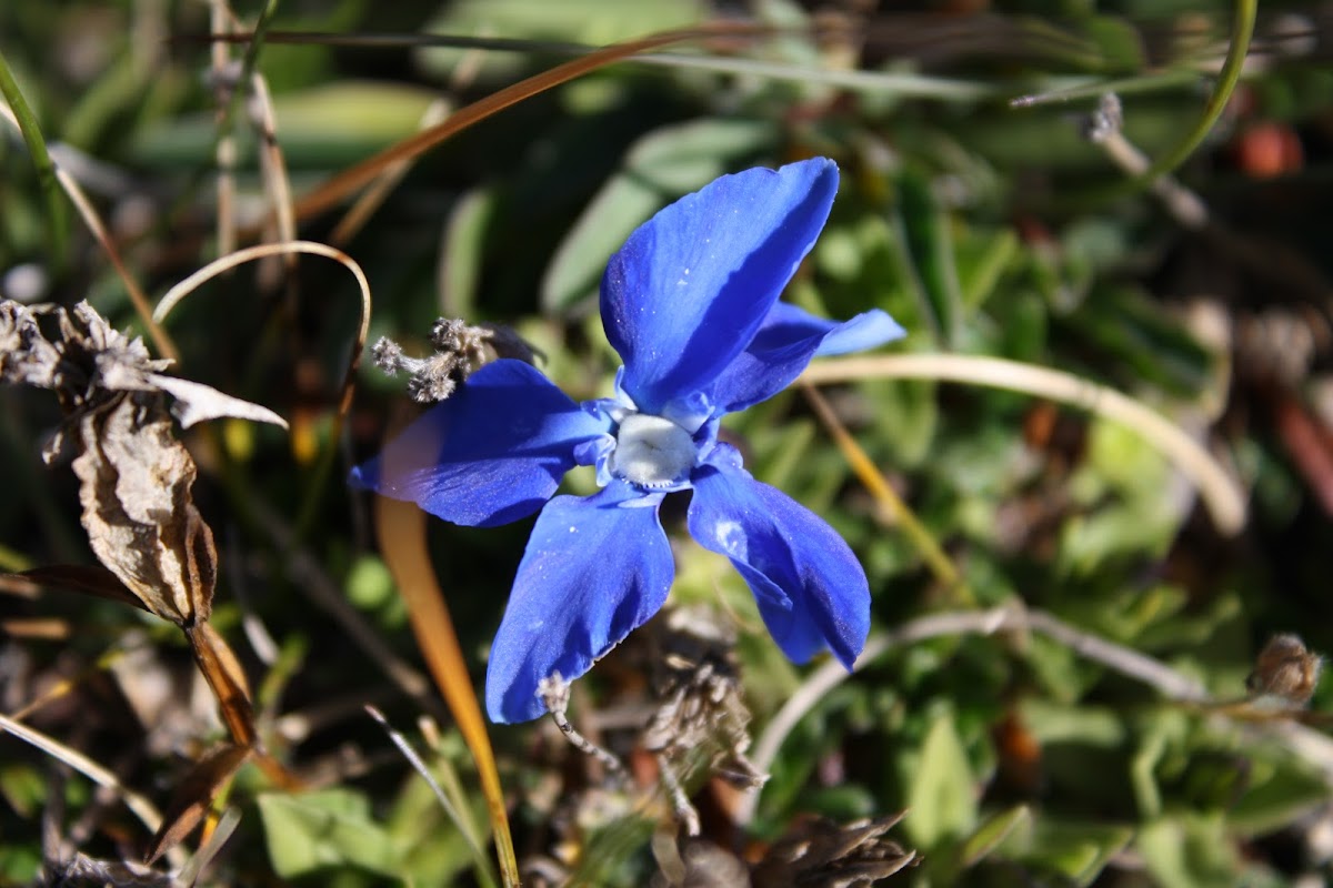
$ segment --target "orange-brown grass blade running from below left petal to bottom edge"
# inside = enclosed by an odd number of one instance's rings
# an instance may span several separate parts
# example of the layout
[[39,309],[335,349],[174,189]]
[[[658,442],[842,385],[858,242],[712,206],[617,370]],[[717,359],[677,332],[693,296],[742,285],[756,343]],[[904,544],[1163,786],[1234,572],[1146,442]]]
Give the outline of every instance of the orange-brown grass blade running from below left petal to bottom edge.
[[459,731],[472,752],[481,777],[481,791],[487,797],[491,827],[500,859],[500,875],[505,885],[519,884],[519,864],[515,860],[509,817],[505,813],[500,774],[496,771],[491,738],[481,716],[481,704],[468,675],[468,664],[453,631],[444,592],[435,579],[431,556],[425,547],[425,513],[413,503],[384,497],[375,498],[375,523],[384,560],[393,572],[399,591],[412,618],[421,654],[431,667]]

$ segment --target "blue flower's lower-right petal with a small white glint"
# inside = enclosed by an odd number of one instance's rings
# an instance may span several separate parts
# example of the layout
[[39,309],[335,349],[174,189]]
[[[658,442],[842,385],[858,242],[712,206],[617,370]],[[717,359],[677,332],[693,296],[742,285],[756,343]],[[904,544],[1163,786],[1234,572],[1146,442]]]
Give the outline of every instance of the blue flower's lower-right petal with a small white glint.
[[852,668],[870,631],[870,590],[856,555],[824,519],[750,478],[718,445],[694,473],[689,533],[732,559],[782,651],[804,663],[826,644]]

